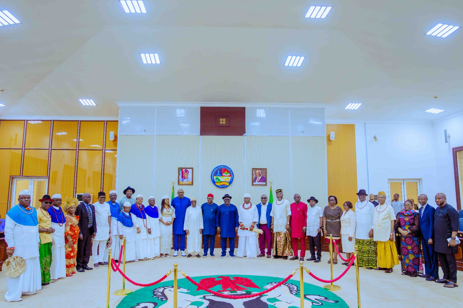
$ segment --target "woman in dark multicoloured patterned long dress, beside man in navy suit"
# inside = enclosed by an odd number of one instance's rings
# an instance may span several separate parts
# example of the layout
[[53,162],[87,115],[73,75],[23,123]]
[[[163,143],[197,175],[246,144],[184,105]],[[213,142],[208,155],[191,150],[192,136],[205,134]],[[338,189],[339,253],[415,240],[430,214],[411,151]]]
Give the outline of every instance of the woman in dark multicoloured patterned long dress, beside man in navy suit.
[[395,230],[400,235],[400,255],[402,275],[417,277],[423,274],[421,263],[421,232],[419,228],[419,214],[413,210],[413,202],[405,201],[404,208],[397,213]]

